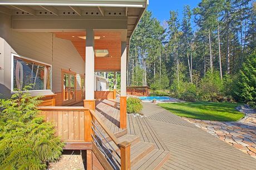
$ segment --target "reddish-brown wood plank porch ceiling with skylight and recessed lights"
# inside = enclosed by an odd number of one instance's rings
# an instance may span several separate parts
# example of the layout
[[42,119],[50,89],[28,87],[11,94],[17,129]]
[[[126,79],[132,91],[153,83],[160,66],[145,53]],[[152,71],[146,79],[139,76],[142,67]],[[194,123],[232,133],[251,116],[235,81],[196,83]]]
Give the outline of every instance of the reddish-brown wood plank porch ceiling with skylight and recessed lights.
[[[95,49],[108,49],[109,57],[95,57],[95,72],[120,71],[121,31],[95,31]],[[71,41],[85,61],[86,32],[55,32],[57,38]]]

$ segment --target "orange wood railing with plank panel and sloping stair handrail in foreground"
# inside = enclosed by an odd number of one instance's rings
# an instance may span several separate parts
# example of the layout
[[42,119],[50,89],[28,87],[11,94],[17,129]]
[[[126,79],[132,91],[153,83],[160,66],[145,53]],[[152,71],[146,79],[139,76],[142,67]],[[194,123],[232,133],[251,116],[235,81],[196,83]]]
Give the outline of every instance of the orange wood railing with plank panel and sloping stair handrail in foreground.
[[120,142],[93,110],[52,106],[38,109],[47,122],[55,124],[57,136],[69,149],[91,149],[105,169],[130,169],[131,144]]

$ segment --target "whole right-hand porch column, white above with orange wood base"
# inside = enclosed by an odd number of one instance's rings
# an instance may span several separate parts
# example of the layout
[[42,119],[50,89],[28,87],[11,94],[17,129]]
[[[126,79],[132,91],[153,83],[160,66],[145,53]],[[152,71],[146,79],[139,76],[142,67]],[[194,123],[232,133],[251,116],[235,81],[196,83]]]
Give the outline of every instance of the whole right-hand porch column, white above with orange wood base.
[[126,128],[126,42],[121,42],[120,128]]

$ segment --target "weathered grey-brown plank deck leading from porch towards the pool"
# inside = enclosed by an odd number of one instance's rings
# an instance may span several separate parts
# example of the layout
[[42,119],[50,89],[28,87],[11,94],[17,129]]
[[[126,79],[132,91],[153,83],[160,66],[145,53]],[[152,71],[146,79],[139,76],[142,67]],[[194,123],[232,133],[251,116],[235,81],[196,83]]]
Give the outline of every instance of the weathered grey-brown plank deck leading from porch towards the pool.
[[140,145],[154,144],[155,148],[149,149],[150,153],[132,169],[255,169],[256,160],[248,154],[155,104],[143,105],[146,117],[129,114],[125,132],[118,127],[119,103],[106,99],[96,102],[96,113],[111,132],[120,136],[127,133],[124,138],[139,136],[141,142],[136,142],[131,156],[142,152]]

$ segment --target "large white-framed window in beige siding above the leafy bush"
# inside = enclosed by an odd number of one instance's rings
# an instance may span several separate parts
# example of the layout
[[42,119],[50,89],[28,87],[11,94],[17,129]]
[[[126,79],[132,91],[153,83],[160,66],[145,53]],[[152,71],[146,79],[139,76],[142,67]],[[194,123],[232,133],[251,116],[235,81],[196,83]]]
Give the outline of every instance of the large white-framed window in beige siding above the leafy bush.
[[34,84],[31,91],[51,90],[50,64],[12,54],[12,91]]

